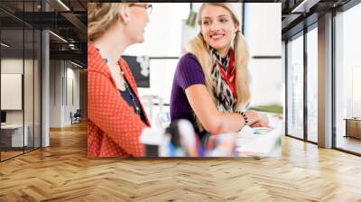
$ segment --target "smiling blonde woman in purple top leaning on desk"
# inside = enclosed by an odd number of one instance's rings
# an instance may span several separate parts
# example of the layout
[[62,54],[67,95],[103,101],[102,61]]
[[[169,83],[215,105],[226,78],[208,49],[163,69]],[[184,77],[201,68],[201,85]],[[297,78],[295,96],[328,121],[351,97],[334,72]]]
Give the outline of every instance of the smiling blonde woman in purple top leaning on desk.
[[264,115],[246,110],[251,95],[249,53],[231,5],[201,5],[198,23],[200,32],[187,44],[188,53],[174,74],[171,120],[188,119],[200,134],[268,125]]

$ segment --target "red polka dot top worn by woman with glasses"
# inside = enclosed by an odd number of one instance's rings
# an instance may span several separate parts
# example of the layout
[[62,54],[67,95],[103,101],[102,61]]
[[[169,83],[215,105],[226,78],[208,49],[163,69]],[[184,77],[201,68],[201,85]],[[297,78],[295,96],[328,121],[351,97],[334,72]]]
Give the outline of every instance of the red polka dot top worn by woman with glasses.
[[[120,59],[125,79],[139,99],[134,77]],[[88,157],[143,156],[139,137],[150,126],[141,104],[146,123],[134,113],[116,88],[106,62],[97,49],[88,44]]]

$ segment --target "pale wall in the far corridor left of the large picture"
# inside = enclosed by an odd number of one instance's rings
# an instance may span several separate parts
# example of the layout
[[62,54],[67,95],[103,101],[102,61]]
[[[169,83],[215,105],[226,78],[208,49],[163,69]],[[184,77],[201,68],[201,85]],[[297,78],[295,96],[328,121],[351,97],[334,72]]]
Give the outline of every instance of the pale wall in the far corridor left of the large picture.
[[51,60],[50,67],[50,127],[62,127],[71,124],[70,112],[79,109],[79,69],[64,60]]

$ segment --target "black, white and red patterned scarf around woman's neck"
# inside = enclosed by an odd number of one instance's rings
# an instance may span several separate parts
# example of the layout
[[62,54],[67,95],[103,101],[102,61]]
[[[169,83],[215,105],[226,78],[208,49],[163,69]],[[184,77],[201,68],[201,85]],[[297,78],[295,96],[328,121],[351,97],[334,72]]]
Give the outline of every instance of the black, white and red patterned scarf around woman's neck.
[[234,112],[236,108],[236,68],[235,52],[230,49],[226,58],[221,58],[217,50],[208,46],[212,57],[212,87],[219,112]]

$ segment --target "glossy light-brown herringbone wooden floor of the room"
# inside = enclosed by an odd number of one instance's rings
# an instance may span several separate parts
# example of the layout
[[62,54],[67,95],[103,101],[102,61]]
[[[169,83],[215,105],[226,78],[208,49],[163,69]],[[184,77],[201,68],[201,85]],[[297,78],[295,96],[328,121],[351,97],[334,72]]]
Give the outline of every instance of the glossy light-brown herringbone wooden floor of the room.
[[361,201],[361,158],[283,138],[282,158],[88,160],[87,125],[0,163],[0,201]]

